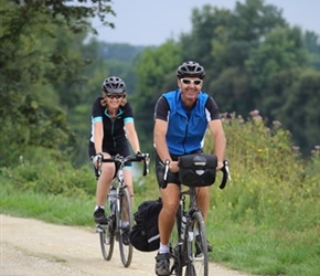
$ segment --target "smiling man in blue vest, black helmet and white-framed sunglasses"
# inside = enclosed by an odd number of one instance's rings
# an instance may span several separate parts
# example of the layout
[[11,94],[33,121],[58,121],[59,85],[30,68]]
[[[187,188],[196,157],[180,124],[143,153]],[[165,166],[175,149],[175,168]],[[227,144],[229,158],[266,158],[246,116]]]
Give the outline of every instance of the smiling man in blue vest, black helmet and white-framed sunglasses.
[[[177,71],[179,88],[162,94],[154,112],[156,170],[163,202],[159,215],[160,247],[156,257],[156,274],[170,275],[169,240],[179,208],[180,184],[178,158],[201,152],[209,127],[217,170],[223,167],[226,139],[215,100],[202,92],[204,68],[196,62],[184,62]],[[168,184],[163,183],[164,161],[170,160]],[[209,187],[199,188],[196,204],[206,219],[210,205]],[[196,234],[196,233],[195,233]],[[207,244],[209,252],[212,246]]]

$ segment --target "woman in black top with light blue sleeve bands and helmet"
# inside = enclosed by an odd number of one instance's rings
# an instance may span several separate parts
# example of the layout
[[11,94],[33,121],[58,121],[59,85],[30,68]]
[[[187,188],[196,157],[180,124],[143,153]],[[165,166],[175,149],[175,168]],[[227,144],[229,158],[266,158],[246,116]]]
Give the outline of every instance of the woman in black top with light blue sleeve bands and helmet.
[[[102,172],[98,176],[97,161],[102,157],[110,158],[117,153],[124,157],[129,156],[129,144],[135,153],[140,153],[140,146],[132,108],[126,97],[125,82],[120,77],[110,76],[104,81],[102,89],[103,96],[93,103],[88,153],[95,164],[97,177],[94,220],[98,224],[106,224],[105,201],[116,168],[113,162],[103,162]],[[131,162],[126,163],[124,178],[130,195],[134,197]]]

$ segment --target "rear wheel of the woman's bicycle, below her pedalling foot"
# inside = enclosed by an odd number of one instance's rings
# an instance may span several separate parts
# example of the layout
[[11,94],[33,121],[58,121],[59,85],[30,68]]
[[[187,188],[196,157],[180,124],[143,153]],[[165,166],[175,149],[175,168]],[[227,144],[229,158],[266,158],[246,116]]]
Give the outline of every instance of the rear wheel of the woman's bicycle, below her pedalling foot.
[[115,214],[111,214],[111,210],[109,204],[107,204],[106,209],[106,216],[108,217],[107,225],[99,225],[98,232],[100,237],[100,247],[104,259],[110,261],[114,254],[114,246],[115,246]]

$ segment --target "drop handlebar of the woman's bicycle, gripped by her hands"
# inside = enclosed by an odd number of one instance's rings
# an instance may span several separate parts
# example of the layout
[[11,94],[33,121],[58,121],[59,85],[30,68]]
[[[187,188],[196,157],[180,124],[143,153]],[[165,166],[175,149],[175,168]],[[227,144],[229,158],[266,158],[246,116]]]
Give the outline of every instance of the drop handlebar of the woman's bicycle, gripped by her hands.
[[131,161],[131,162],[140,162],[143,161],[143,172],[142,176],[146,177],[149,173],[149,153],[140,153],[139,156],[127,156],[122,157],[120,155],[113,156],[111,158],[99,158],[98,159],[98,173],[102,172],[102,163],[118,163],[120,166],[124,166],[125,162]]

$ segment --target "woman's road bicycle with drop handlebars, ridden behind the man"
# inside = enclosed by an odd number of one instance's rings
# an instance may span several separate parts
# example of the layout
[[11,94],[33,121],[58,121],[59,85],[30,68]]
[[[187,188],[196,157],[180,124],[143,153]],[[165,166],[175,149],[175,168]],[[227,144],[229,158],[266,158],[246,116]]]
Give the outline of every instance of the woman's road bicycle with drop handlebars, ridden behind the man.
[[[98,168],[102,162],[114,162],[116,164],[116,177],[113,179],[106,204],[107,224],[97,224],[96,232],[99,233],[100,247],[106,261],[110,261],[114,254],[115,240],[119,242],[121,262],[125,267],[131,264],[134,247],[129,242],[128,234],[132,229],[132,206],[130,194],[124,181],[124,167],[127,161],[143,161],[142,176],[147,176],[149,167],[149,155],[122,157],[116,155],[111,158],[98,160]],[[114,194],[113,194],[114,193]],[[128,225],[124,225],[124,222]]]

